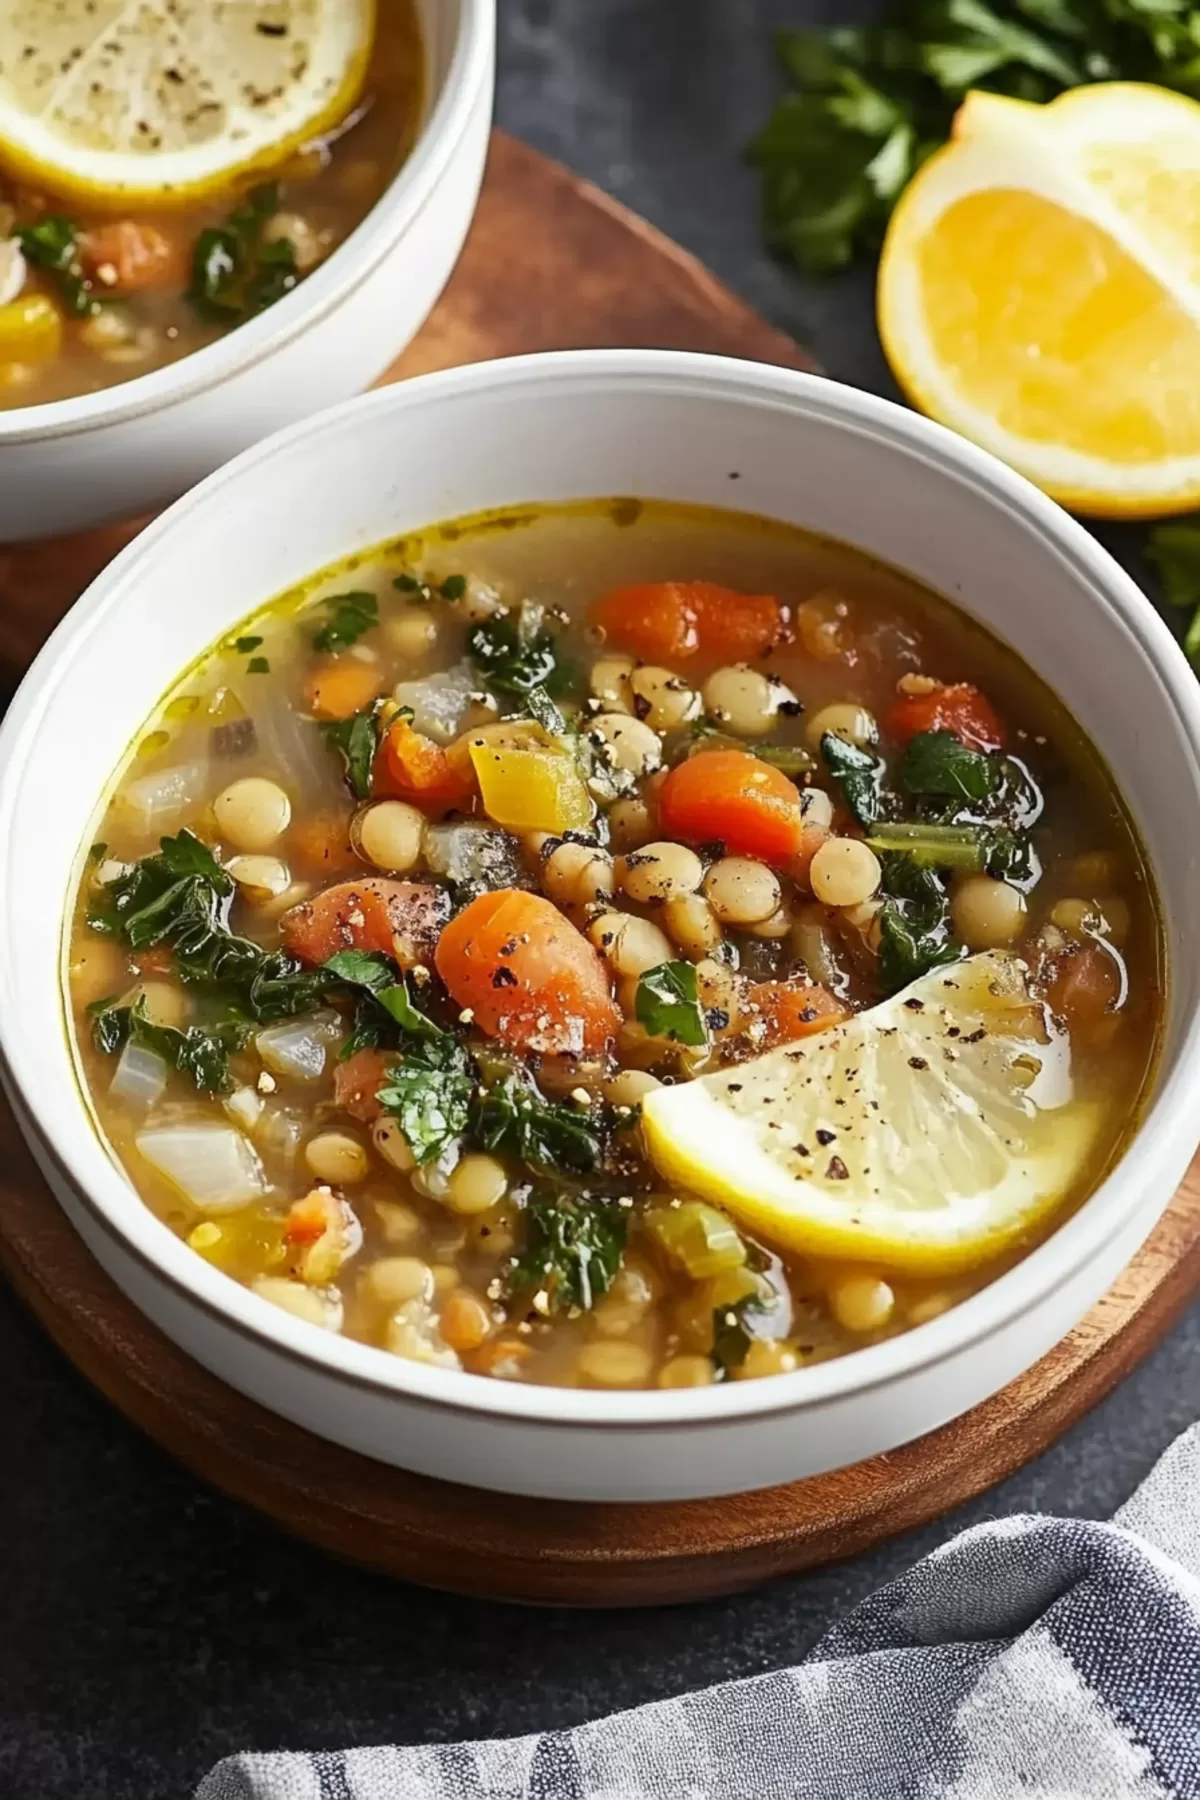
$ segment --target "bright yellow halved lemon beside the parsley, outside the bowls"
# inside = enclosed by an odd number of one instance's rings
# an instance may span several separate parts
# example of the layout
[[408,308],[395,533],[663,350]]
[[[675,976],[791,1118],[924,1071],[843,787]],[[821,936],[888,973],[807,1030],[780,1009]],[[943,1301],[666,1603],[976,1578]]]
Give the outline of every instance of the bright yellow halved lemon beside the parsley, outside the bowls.
[[1200,104],[970,94],[892,214],[878,319],[914,405],[1067,506],[1196,506]]

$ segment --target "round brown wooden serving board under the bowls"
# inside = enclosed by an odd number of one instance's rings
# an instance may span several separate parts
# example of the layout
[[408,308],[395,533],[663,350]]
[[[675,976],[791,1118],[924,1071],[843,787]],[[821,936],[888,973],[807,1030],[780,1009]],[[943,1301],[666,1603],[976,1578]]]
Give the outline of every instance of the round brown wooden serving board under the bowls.
[[[482,356],[676,346],[810,365],[676,245],[497,135],[462,261],[401,378]],[[20,679],[137,526],[0,551],[0,671]],[[0,1102],[0,1262],[50,1336],[135,1424],[284,1530],[434,1588],[646,1606],[865,1550],[1045,1449],[1157,1343],[1200,1283],[1200,1163],[1121,1282],[1034,1370],[887,1456],[714,1503],[513,1499],[401,1474],[288,1426],[189,1361],[97,1269]]]

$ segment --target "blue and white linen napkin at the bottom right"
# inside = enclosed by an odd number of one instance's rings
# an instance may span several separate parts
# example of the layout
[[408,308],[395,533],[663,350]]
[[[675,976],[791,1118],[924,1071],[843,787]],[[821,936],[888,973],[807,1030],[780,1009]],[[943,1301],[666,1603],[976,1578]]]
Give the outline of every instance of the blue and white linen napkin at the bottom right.
[[196,1800],[1200,1800],[1200,1426],[1110,1525],[963,1532],[795,1669],[574,1732],[230,1757]]

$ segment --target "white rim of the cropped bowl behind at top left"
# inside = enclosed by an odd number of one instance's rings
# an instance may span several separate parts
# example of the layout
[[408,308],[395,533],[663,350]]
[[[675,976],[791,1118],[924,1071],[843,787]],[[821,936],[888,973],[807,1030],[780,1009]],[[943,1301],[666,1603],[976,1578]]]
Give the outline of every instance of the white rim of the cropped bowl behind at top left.
[[[70,394],[34,407],[5,407],[0,410],[0,450],[76,437],[162,412],[198,392],[225,385],[336,311],[430,203],[468,133],[480,90],[491,81],[495,9],[497,0],[457,0],[457,29],[446,74],[412,151],[354,230],[291,293],[162,369],[149,369],[90,394]],[[425,58],[430,79],[428,45]]]

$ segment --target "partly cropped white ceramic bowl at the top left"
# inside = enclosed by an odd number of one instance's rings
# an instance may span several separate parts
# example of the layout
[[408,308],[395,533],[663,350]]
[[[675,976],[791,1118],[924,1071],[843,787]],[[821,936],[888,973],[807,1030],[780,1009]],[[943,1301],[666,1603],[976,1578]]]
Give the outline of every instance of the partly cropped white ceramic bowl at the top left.
[[495,0],[417,0],[417,14],[425,126],[362,225],[216,344],[97,394],[0,410],[0,544],[164,506],[268,432],[358,394],[416,337],[479,198]]

